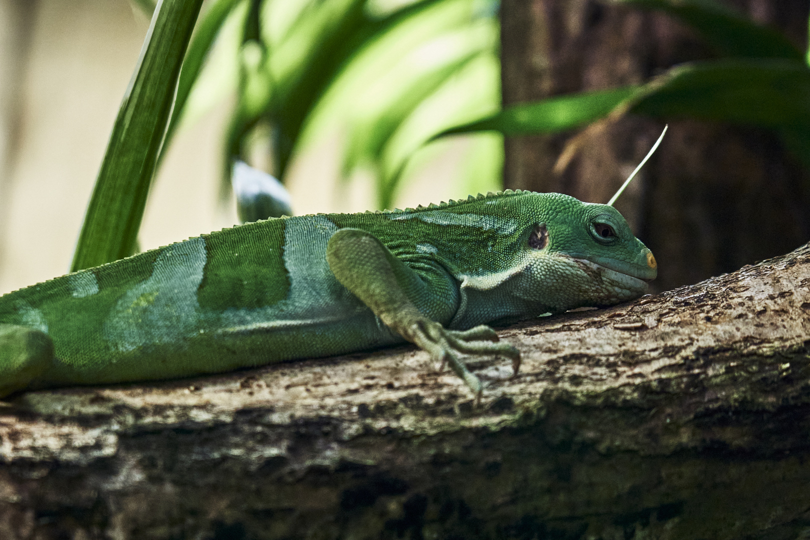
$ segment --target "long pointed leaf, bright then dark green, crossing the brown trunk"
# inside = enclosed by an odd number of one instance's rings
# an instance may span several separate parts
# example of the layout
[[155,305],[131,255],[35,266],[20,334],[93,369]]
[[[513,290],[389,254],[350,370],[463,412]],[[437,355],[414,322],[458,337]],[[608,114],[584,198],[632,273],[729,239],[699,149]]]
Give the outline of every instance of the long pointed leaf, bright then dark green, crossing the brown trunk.
[[681,64],[643,87],[583,92],[515,105],[438,134],[505,135],[573,129],[615,113],[701,118],[771,128],[810,126],[810,70],[802,61],[725,58]]

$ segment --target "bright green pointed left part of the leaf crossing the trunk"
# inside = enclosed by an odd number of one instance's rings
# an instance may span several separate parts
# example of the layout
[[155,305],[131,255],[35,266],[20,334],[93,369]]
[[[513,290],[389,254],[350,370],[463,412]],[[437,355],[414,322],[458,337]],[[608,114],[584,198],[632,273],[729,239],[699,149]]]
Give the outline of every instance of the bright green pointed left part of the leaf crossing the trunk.
[[433,139],[490,130],[500,131],[507,136],[573,130],[607,116],[617,105],[633,96],[639,88],[633,86],[582,92],[513,105],[481,120],[444,130]]

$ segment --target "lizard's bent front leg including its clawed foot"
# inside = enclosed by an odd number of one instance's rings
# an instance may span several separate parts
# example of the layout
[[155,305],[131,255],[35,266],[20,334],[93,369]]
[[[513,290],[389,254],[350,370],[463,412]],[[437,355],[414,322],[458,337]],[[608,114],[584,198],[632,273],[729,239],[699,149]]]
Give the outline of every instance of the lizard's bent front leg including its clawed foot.
[[[391,253],[369,232],[343,228],[335,232],[326,247],[326,261],[335,277],[390,329],[407,341],[428,351],[433,359],[453,371],[480,398],[481,383],[458,359],[458,353],[503,355],[512,359],[514,371],[520,366],[520,353],[498,341],[495,330],[480,325],[471,330],[447,330],[428,313],[431,304],[447,296],[441,283],[429,283]],[[426,283],[427,281],[427,283]]]

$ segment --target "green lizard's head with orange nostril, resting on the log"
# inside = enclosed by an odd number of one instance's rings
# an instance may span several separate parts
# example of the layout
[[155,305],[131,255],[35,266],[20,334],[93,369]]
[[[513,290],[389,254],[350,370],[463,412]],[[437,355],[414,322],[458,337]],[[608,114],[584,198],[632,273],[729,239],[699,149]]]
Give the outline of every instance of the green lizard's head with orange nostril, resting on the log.
[[523,282],[521,296],[564,311],[619,304],[646,293],[646,282],[658,273],[655,257],[615,208],[561,193],[532,195],[522,216],[527,262],[521,281],[536,285]]

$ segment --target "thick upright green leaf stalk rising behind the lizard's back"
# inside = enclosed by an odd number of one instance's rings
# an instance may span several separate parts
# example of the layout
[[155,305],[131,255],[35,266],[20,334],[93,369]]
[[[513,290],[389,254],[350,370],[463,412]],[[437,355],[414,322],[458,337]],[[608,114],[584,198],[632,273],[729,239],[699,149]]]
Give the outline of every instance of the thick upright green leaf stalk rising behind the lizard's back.
[[160,0],[113,125],[71,270],[134,251],[177,76],[203,0]]

